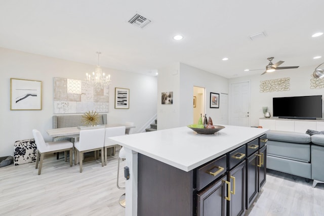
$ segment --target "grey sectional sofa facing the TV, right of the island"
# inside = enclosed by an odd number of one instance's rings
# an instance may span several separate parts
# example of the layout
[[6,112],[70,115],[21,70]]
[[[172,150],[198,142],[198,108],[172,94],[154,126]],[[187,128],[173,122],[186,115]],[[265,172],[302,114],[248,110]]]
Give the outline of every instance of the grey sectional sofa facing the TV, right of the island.
[[324,135],[267,132],[267,168],[324,183]]

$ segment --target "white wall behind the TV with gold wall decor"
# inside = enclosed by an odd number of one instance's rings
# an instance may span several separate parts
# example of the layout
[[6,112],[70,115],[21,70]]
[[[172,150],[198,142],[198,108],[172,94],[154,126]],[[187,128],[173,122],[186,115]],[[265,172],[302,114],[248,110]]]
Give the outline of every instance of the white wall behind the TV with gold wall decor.
[[[259,125],[259,118],[264,117],[262,107],[267,106],[272,116],[273,97],[291,97],[324,95],[324,89],[310,89],[311,74],[317,65],[313,67],[299,67],[297,69],[278,70],[264,75],[253,75],[230,79],[230,83],[239,81],[251,81],[251,126]],[[260,74],[263,71],[260,71]],[[290,77],[290,91],[260,93],[260,81]],[[324,107],[324,106],[323,106]]]

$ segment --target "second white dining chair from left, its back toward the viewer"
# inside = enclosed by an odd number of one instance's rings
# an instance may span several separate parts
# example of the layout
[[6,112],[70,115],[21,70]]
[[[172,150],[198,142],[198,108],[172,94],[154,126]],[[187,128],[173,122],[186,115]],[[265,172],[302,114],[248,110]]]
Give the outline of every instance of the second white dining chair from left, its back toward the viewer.
[[[104,165],[104,142],[105,128],[80,130],[79,140],[74,143],[75,155],[79,157],[80,172],[83,170],[83,158],[86,152],[93,151],[96,159],[96,151],[101,150],[101,165]],[[76,163],[76,157],[74,156],[74,163]]]

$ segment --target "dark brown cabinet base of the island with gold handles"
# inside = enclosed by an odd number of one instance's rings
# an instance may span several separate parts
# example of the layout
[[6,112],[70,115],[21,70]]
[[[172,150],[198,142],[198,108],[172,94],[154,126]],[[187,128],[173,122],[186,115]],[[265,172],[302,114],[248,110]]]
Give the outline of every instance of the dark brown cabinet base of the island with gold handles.
[[188,172],[139,153],[137,215],[244,215],[266,181],[260,139]]

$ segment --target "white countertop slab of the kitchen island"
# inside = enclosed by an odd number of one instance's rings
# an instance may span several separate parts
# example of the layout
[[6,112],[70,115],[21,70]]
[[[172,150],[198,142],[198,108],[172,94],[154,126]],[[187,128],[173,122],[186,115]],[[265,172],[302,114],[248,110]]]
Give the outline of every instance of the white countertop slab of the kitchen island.
[[184,171],[190,171],[255,138],[268,129],[225,126],[213,135],[196,134],[184,126],[110,138],[121,146]]

